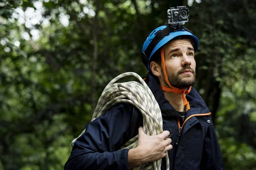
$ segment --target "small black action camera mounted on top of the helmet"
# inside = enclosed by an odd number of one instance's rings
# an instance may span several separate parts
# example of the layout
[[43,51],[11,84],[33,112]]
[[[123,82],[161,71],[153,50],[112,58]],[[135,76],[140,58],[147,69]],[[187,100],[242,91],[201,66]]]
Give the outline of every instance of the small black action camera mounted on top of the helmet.
[[189,8],[176,6],[167,11],[168,23],[170,25],[183,25],[189,21]]

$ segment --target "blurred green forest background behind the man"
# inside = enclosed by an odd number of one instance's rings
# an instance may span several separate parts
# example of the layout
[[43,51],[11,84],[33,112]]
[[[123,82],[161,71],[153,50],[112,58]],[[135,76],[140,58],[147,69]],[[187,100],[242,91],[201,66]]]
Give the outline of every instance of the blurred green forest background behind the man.
[[147,74],[143,42],[181,5],[225,169],[256,170],[256,0],[1,0],[0,170],[62,170],[102,90]]

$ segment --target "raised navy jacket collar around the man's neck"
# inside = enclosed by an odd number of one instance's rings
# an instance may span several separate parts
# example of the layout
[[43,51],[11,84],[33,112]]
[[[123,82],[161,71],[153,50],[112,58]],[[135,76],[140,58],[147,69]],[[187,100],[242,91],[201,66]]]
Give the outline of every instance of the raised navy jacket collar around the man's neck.
[[[165,98],[163,91],[161,90],[157,80],[151,73],[148,73],[145,82],[148,87],[154,94],[155,99],[158,102],[158,105],[161,109],[163,116],[179,116],[180,113],[175,110],[175,108],[169,103],[169,101]],[[186,99],[189,101],[190,109],[186,113],[186,117],[193,114],[201,114],[201,113],[209,113],[209,109],[205,104],[204,100],[192,87],[189,94],[186,94]]]

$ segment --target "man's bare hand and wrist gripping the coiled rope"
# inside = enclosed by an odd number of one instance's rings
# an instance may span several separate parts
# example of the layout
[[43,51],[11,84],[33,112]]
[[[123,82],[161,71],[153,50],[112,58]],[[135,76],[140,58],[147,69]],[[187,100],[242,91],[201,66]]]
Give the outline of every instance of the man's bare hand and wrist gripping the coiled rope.
[[149,136],[140,127],[137,147],[128,152],[128,169],[165,157],[166,151],[172,149],[172,139],[167,137],[169,134],[166,130],[159,135]]

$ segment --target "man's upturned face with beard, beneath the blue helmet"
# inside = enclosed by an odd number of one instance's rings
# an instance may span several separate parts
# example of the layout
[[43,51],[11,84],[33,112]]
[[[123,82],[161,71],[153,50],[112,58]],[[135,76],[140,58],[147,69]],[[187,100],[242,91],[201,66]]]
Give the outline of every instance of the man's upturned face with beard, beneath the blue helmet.
[[[166,73],[172,86],[189,88],[195,83],[194,54],[194,48],[188,40],[174,40],[164,46]],[[164,77],[162,67],[161,73]],[[165,79],[163,82],[167,85]]]

